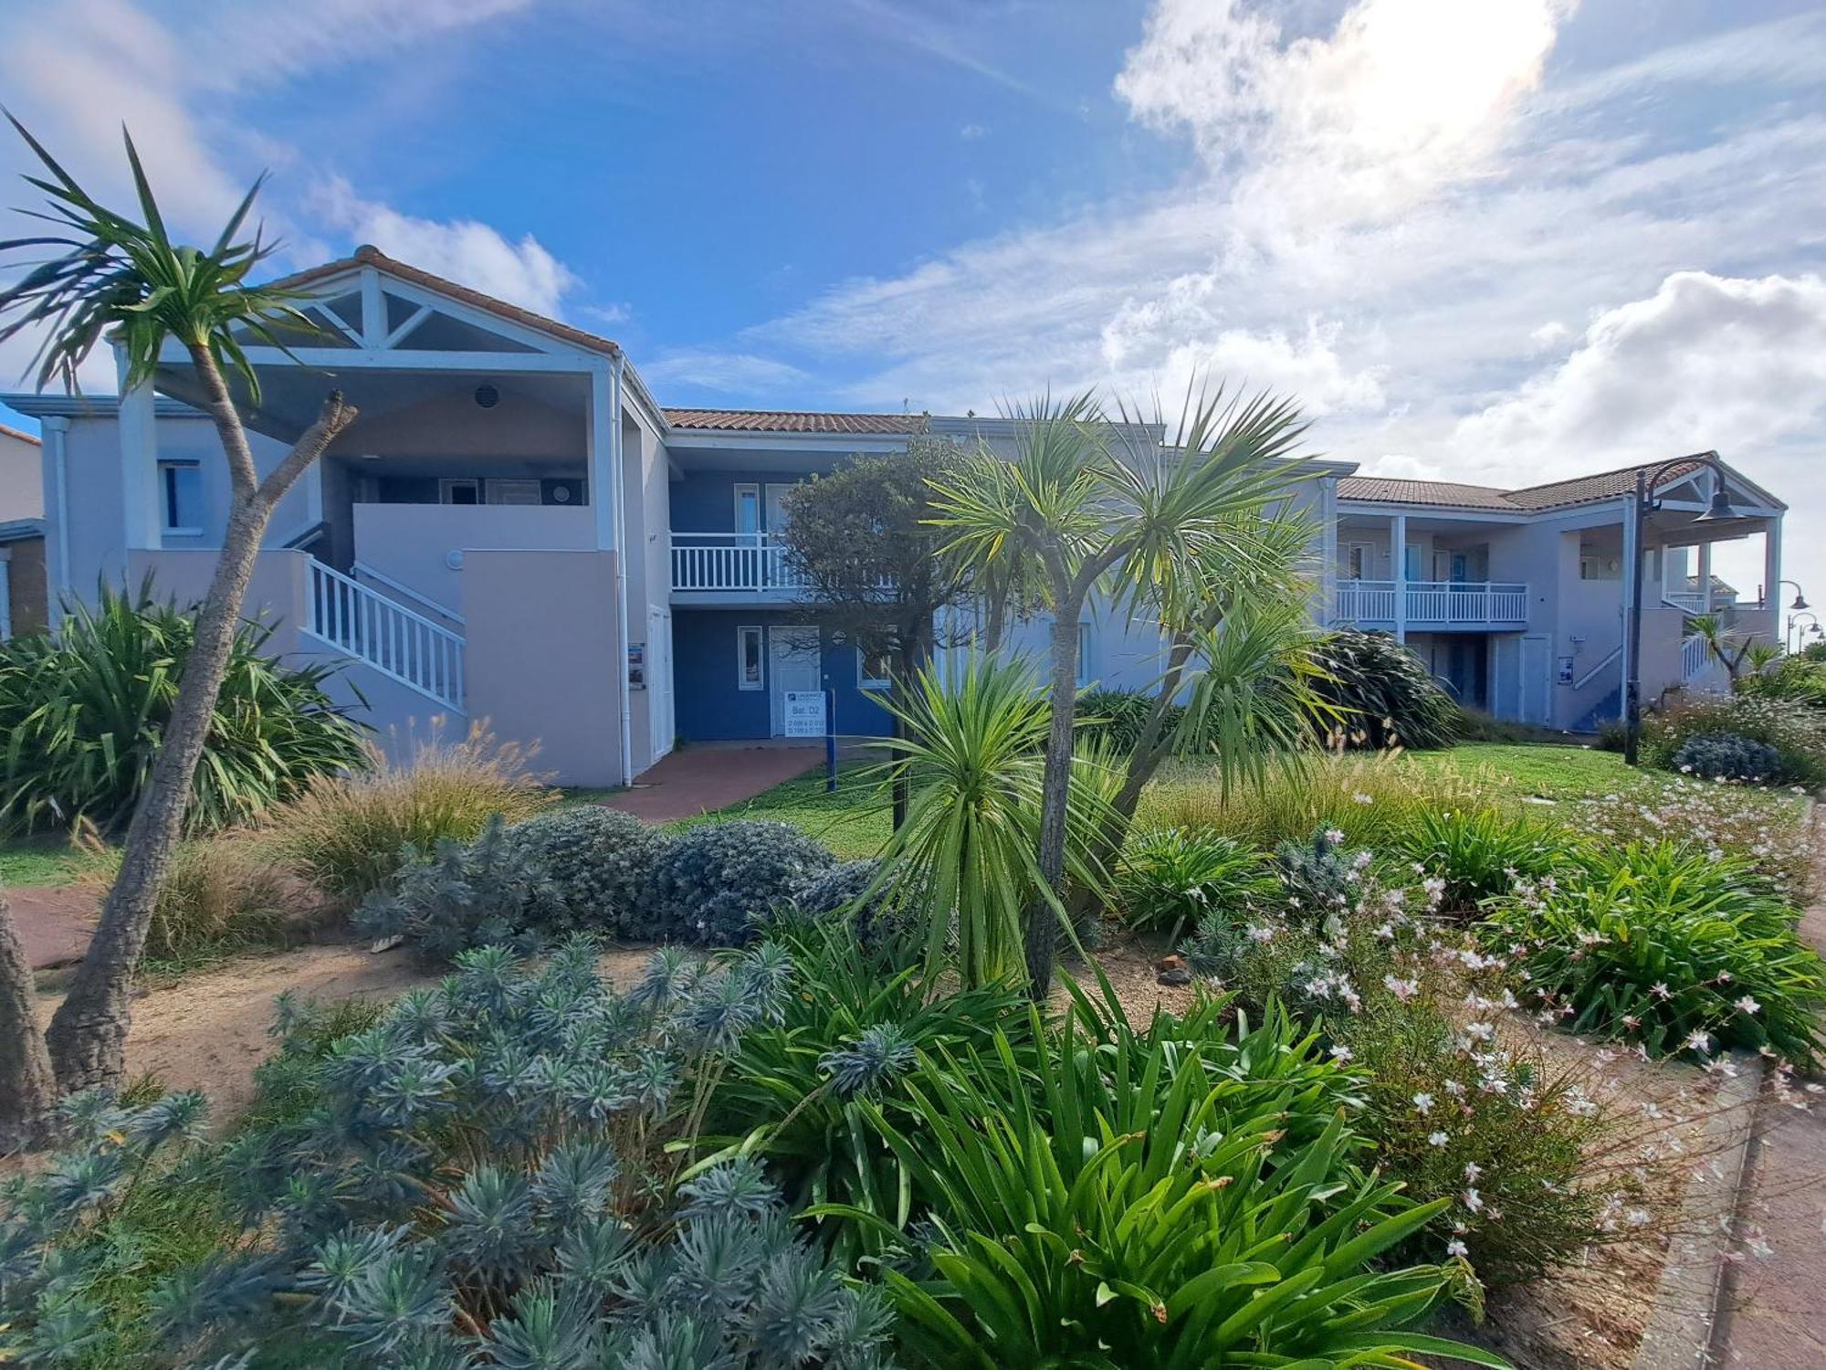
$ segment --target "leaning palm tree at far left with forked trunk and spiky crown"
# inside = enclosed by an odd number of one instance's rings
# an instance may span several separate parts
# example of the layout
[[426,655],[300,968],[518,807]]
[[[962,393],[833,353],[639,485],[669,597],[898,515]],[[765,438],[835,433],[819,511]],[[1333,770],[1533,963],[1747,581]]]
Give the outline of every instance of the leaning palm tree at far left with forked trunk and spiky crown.
[[[128,387],[148,384],[164,343],[179,343],[221,438],[232,491],[215,575],[197,610],[195,645],[126,831],[121,873],[88,955],[46,1034],[57,1083],[68,1092],[117,1085],[122,1078],[133,966],[146,943],[153,895],[183,827],[254,559],[274,506],[354,422],[356,411],[331,391],[316,422],[261,479],[230,393],[232,378],[250,404],[259,402],[259,376],[241,340],[279,345],[276,325],[316,327],[296,307],[298,296],[247,281],[274,250],[257,230],[250,239],[241,237],[265,177],[247,192],[214,247],[184,247],[166,228],[131,137],[126,137],[126,157],[139,195],[139,221],[99,205],[24,124],[7,119],[44,164],[46,175],[26,179],[47,197],[47,208],[37,217],[55,230],[0,243],[0,254],[38,254],[18,281],[0,290],[0,342],[42,331],[37,384],[60,382],[71,391],[79,367],[102,338],[119,345]],[[51,256],[44,258],[46,250]]]

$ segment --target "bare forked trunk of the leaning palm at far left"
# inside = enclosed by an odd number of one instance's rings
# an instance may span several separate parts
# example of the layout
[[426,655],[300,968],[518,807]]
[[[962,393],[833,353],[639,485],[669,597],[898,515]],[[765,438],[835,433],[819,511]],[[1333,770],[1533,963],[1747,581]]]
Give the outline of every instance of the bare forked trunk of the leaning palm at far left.
[[57,1083],[64,1092],[113,1089],[124,1076],[133,968],[146,946],[159,884],[184,827],[197,760],[208,740],[261,537],[279,497],[336,435],[354,422],[354,407],[345,406],[341,395],[331,395],[318,422],[272,475],[254,486],[247,435],[228,387],[206,351],[192,349],[192,358],[210,396],[208,409],[228,457],[236,499],[215,561],[215,575],[197,610],[195,641],[177,680],[172,716],[126,829],[121,873],[102,904],[100,922],[69,985],[69,994],[46,1032]]

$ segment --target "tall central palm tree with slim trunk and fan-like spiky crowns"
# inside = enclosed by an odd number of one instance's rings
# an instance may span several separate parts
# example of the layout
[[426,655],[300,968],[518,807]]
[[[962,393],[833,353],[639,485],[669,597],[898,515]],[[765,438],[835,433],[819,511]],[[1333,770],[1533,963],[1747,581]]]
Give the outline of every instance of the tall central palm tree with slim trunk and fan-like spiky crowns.
[[[1187,391],[1180,446],[1134,442],[1090,393],[1015,409],[1017,448],[986,448],[935,490],[944,552],[971,570],[1028,586],[1052,614],[1050,729],[1041,785],[1039,875],[1065,895],[1079,617],[1099,583],[1130,621],[1191,625],[1212,566],[1236,544],[1238,521],[1286,493],[1306,426],[1286,400]],[[1123,411],[1121,418],[1128,418]],[[1187,648],[1191,652],[1191,647]],[[1189,658],[1181,659],[1181,670]],[[1169,696],[1170,698],[1170,696]],[[1055,933],[1046,901],[1026,921],[1030,992],[1052,985]]]

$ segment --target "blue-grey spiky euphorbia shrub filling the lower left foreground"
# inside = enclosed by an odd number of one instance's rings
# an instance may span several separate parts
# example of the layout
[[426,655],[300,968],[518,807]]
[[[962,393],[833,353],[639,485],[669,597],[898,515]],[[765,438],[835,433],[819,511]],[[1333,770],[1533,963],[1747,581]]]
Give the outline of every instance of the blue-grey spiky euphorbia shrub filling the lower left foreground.
[[[661,957],[615,996],[579,941],[539,974],[466,954],[327,1049],[289,1023],[318,1103],[203,1158],[237,1222],[150,1297],[157,1365],[882,1365],[880,1301],[792,1231],[758,1165],[668,1182],[665,1143],[783,981],[772,952]],[[194,1122],[184,1101],[104,1105],[84,1147],[16,1186],[0,1335],[84,1352],[102,1310],[80,1231],[137,1182],[142,1136]]]

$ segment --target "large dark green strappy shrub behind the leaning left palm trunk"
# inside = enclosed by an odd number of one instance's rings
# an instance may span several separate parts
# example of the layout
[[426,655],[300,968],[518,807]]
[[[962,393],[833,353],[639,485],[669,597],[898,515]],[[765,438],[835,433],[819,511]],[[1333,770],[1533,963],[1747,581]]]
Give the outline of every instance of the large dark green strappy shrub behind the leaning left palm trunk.
[[[267,654],[272,627],[241,623],[210,718],[186,824],[248,822],[312,776],[367,764],[363,725],[325,690],[323,665]],[[152,597],[97,592],[69,601],[57,632],[0,643],[0,827],[126,827],[172,716],[195,639],[192,612]]]

